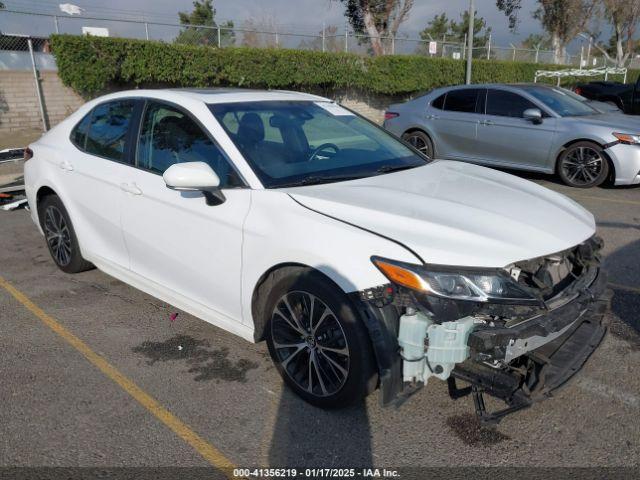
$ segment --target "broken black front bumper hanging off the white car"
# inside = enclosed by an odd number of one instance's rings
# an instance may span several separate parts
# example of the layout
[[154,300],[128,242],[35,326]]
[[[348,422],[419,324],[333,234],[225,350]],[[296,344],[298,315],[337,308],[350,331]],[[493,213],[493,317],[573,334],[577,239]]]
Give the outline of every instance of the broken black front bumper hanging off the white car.
[[[608,329],[611,292],[598,270],[594,282],[563,306],[510,328],[483,328],[469,335],[471,356],[449,379],[453,398],[472,393],[481,420],[495,422],[551,396],[578,372]],[[458,389],[455,379],[472,385]],[[507,408],[487,413],[478,393],[503,400]]]

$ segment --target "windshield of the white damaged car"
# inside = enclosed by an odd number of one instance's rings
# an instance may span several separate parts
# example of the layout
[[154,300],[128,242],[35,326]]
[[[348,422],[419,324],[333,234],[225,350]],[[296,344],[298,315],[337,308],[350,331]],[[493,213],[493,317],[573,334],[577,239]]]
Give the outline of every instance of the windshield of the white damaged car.
[[428,160],[332,102],[209,105],[266,188],[381,175]]

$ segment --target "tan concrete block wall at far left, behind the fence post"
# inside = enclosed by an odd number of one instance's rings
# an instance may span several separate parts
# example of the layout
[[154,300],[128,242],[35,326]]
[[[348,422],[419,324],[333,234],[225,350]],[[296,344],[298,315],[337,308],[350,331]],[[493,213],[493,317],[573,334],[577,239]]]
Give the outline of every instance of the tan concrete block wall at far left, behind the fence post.
[[[62,121],[85,100],[65,87],[57,72],[40,72],[40,83],[49,126]],[[0,70],[0,133],[42,129],[38,93],[33,72]]]

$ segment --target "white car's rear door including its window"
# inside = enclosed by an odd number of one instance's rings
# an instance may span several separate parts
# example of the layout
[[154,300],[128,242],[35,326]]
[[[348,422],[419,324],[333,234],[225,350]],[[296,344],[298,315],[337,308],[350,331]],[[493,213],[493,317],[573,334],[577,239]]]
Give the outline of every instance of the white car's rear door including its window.
[[59,165],[83,255],[124,269],[129,255],[120,228],[121,185],[133,170],[130,126],[139,105],[119,99],[96,106],[72,131],[76,154]]

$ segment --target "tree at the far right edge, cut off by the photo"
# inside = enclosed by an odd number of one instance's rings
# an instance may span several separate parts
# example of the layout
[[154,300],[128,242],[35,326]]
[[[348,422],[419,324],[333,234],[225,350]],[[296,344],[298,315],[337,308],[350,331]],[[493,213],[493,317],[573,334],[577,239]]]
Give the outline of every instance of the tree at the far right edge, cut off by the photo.
[[[634,51],[633,37],[640,23],[640,2],[638,0],[603,0],[603,7],[605,18],[613,27],[613,35],[609,43],[614,47],[603,53],[608,60],[615,61],[616,66],[623,67]],[[611,55],[615,55],[615,60]]]

